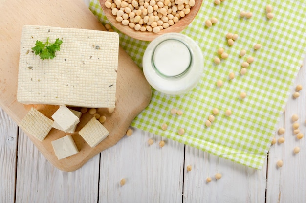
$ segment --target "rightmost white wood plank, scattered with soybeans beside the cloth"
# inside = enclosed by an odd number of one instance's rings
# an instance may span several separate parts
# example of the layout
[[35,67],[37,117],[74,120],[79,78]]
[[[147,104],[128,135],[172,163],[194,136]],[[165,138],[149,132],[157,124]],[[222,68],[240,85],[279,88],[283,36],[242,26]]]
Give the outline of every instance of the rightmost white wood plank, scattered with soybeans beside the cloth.
[[[306,58],[304,59],[306,64]],[[297,84],[302,84],[304,89],[300,91],[301,96],[292,98]],[[294,82],[290,92],[289,100],[285,108],[284,115],[278,128],[284,127],[284,135],[275,133],[276,139],[285,138],[283,144],[275,144],[269,151],[268,160],[268,182],[267,182],[267,202],[268,203],[305,203],[306,195],[306,142],[305,137],[296,139],[292,129],[292,115],[299,115],[300,131],[306,135],[306,67],[303,66]],[[299,154],[294,154],[294,147],[300,147]],[[277,167],[278,160],[283,160],[282,168]]]

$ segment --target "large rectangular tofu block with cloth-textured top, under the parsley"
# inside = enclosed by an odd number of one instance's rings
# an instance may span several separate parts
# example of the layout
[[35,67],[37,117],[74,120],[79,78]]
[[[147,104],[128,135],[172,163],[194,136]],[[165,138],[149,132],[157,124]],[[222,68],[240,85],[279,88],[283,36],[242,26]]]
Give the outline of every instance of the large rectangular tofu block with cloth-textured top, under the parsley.
[[[53,59],[40,59],[37,40],[63,40]],[[17,100],[24,104],[114,107],[119,36],[115,32],[25,25]]]

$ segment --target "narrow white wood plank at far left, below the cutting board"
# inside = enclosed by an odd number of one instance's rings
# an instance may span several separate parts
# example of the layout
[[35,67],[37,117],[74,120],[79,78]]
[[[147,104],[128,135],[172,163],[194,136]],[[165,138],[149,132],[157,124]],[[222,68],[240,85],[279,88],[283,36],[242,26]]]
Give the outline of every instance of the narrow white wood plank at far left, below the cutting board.
[[18,126],[0,108],[0,202],[13,203],[15,198]]

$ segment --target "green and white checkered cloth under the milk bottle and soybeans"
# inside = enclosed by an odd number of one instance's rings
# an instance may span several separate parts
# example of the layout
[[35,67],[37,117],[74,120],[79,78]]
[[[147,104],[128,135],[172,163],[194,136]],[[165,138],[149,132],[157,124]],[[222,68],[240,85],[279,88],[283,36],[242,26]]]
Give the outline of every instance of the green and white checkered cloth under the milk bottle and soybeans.
[[[271,20],[266,18],[268,3],[275,14]],[[98,0],[90,2],[90,9],[103,24],[109,23]],[[241,18],[240,11],[250,11],[253,17]],[[207,28],[204,22],[212,17],[219,22]],[[198,86],[176,97],[153,90],[151,103],[132,126],[261,169],[306,53],[305,22],[306,3],[299,0],[228,0],[218,6],[213,0],[203,0],[195,20],[181,32],[194,39],[203,52],[204,72]],[[228,32],[239,35],[233,46],[227,45]],[[142,67],[149,43],[118,33],[120,45]],[[262,45],[257,51],[253,48],[256,43]],[[219,47],[224,47],[229,57],[215,65]],[[239,56],[241,49],[247,52],[243,57]],[[241,76],[241,63],[249,56],[255,60]],[[235,73],[233,80],[228,78],[231,72]],[[223,81],[220,88],[218,80]],[[240,92],[247,97],[241,100]],[[173,108],[183,114],[172,115]],[[218,108],[219,114],[212,126],[206,127],[213,108]],[[225,116],[227,109],[231,116]],[[168,125],[165,131],[163,123]],[[184,135],[178,135],[180,128],[185,129]]]

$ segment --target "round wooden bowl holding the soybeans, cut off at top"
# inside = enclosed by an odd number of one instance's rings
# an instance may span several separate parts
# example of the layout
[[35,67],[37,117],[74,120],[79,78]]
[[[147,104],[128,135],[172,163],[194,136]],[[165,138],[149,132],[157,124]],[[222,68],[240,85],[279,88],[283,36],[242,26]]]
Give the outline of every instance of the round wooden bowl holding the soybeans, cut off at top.
[[193,6],[190,9],[190,13],[187,14],[185,17],[181,18],[177,23],[175,23],[174,25],[162,29],[160,32],[158,33],[154,33],[154,32],[148,32],[148,31],[136,31],[133,28],[129,27],[128,25],[123,25],[121,24],[121,22],[118,22],[116,20],[116,17],[114,15],[112,15],[111,13],[111,8],[107,8],[105,7],[105,1],[106,0],[100,0],[100,5],[102,7],[102,10],[104,11],[104,14],[106,15],[107,19],[109,20],[109,22],[116,27],[119,31],[121,31],[123,34],[128,35],[134,39],[138,39],[138,40],[143,40],[143,41],[152,41],[153,39],[155,39],[156,37],[165,34],[165,33],[169,33],[169,32],[180,32],[182,31],[187,25],[189,25],[189,23],[191,23],[194,18],[197,15],[197,12],[199,11],[202,1],[203,0],[196,0],[196,4],[195,6]]

